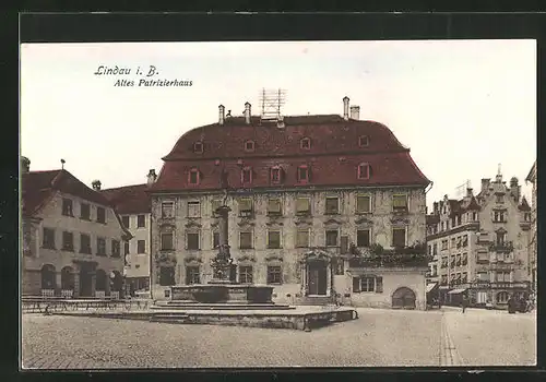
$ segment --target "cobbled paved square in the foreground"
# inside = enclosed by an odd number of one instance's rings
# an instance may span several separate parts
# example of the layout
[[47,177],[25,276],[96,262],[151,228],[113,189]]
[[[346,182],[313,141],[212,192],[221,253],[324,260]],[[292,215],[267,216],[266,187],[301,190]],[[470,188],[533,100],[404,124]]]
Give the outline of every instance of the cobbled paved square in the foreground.
[[24,314],[23,368],[532,366],[536,315],[358,309],[302,332]]

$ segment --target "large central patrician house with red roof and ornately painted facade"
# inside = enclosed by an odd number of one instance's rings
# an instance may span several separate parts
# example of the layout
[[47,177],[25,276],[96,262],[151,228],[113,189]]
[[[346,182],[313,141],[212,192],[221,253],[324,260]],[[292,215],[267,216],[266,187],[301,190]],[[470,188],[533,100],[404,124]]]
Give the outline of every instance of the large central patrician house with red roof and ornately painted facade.
[[248,103],[244,117],[221,106],[217,123],[182,135],[151,190],[153,298],[212,278],[226,204],[239,283],[272,285],[276,301],[423,308],[427,263],[396,255],[425,248],[430,182],[387,127],[351,109],[344,98],[343,116],[268,121]]

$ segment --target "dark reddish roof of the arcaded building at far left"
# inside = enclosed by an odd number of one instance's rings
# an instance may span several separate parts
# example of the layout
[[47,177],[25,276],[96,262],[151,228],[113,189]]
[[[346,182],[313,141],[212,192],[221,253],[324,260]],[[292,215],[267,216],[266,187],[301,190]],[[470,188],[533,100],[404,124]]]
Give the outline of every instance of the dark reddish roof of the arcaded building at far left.
[[21,178],[24,215],[35,214],[56,191],[110,206],[104,195],[88,188],[64,169],[29,171],[22,174]]

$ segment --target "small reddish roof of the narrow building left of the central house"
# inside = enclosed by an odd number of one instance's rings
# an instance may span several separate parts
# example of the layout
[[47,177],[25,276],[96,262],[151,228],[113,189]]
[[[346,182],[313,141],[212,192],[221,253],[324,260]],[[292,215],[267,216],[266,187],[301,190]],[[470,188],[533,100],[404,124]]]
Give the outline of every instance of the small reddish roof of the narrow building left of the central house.
[[106,189],[102,190],[100,193],[116,206],[116,211],[121,215],[145,214],[152,211],[151,199],[146,193],[147,189],[147,184],[144,183]]

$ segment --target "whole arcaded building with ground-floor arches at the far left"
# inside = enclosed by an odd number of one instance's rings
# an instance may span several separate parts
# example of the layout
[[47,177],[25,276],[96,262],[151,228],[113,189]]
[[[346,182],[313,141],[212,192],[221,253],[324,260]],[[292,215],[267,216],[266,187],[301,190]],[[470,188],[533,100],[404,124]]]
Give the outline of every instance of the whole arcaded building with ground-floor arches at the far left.
[[64,169],[22,162],[22,294],[122,297],[130,234],[110,203]]

